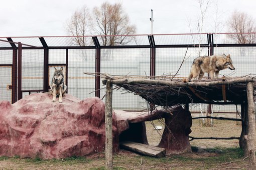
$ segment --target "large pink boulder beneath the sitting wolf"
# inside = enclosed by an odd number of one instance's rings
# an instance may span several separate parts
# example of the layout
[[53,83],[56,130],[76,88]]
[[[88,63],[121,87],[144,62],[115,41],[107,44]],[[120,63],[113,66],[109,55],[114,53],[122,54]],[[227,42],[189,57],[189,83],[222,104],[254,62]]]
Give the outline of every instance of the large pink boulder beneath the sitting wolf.
[[[63,158],[102,152],[105,147],[104,102],[80,100],[70,94],[63,102],[35,93],[11,104],[0,101],[0,156]],[[118,146],[113,113],[113,151]]]

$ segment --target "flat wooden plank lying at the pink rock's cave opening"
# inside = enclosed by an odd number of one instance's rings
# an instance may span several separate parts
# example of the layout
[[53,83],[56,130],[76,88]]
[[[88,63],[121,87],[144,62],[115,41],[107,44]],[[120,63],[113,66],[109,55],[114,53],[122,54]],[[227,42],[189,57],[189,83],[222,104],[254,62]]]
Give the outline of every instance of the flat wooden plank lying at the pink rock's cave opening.
[[141,153],[143,155],[153,156],[153,157],[163,157],[165,156],[165,153],[166,153],[165,148],[151,146],[143,143],[137,143],[133,141],[122,141],[120,142],[120,146],[125,149],[132,150],[132,151]]

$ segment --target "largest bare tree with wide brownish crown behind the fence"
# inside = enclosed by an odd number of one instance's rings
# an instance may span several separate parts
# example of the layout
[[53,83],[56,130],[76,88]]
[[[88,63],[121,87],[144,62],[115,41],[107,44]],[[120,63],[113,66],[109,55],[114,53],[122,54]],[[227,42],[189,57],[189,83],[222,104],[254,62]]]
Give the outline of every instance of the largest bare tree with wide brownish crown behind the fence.
[[129,16],[123,11],[120,3],[104,2],[100,7],[94,7],[93,18],[95,18],[93,29],[97,34],[102,35],[103,45],[127,44],[133,37],[126,35],[136,33],[136,26],[130,24]]

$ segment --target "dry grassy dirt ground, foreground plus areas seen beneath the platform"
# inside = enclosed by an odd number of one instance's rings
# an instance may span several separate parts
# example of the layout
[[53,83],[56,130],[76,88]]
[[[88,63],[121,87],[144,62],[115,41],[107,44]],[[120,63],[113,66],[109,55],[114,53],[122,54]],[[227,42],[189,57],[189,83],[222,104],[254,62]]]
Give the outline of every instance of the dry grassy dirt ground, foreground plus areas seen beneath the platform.
[[[197,115],[192,114],[192,116]],[[154,124],[163,125],[158,120],[155,120]],[[156,130],[150,121],[146,122],[146,127],[149,143],[151,145],[157,145],[160,142],[163,129]],[[213,120],[213,126],[202,126],[200,120],[193,119],[191,129],[192,132],[190,136],[194,137],[239,137],[241,125],[237,125],[236,121]],[[238,139],[195,139],[190,143],[192,146],[201,148],[217,147],[235,149],[235,147],[239,147]],[[228,154],[228,152],[225,154]],[[219,159],[215,160],[216,157]],[[206,161],[205,158],[209,160]],[[104,166],[104,153],[87,156],[83,159],[75,158],[74,160],[32,160],[26,158],[0,157],[0,169],[104,169]],[[237,158],[228,155],[223,158],[223,155],[217,152],[192,152],[176,156],[153,158],[126,150],[120,150],[120,152],[114,156],[113,166],[115,167],[114,169],[247,169],[248,161],[243,159],[242,156]]]

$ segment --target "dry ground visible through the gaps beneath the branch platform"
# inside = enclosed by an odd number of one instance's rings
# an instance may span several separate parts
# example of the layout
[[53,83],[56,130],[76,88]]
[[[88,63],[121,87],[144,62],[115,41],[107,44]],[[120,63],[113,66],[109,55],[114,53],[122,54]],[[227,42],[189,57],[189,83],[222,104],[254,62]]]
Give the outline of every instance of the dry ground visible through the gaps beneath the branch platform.
[[[198,114],[192,114],[192,117],[199,116]],[[235,118],[235,114],[220,114],[218,116]],[[209,119],[210,121],[210,119]],[[213,126],[202,126],[201,120],[193,119],[191,130],[189,134],[193,137],[240,137],[241,123],[238,121],[230,120],[216,120],[212,119]],[[163,121],[155,120],[154,125],[161,125],[164,129]],[[238,125],[237,125],[238,124]],[[152,125],[152,122],[146,122],[147,138],[151,145],[158,145],[161,140],[161,134],[163,129],[156,130]],[[256,138],[255,138],[256,141]],[[239,147],[238,139],[231,140],[216,140],[216,139],[194,139],[190,141],[192,146],[202,148],[214,148],[214,147]]]

